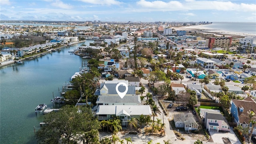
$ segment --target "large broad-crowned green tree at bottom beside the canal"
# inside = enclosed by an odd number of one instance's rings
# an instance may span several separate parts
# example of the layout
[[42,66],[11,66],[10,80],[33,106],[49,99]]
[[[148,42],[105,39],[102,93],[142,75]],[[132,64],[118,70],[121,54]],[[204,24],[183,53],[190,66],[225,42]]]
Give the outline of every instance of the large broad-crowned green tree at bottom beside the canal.
[[84,106],[63,106],[59,112],[44,116],[44,122],[46,124],[36,132],[39,144],[56,144],[59,140],[66,144],[82,139],[87,144],[96,144],[99,141],[100,122]]

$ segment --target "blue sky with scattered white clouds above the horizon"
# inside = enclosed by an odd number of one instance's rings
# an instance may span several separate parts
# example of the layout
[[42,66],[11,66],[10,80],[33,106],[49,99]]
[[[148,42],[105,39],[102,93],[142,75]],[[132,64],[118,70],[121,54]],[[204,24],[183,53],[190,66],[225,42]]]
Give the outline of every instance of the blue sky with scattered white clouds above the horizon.
[[256,22],[256,0],[0,0],[0,20]]

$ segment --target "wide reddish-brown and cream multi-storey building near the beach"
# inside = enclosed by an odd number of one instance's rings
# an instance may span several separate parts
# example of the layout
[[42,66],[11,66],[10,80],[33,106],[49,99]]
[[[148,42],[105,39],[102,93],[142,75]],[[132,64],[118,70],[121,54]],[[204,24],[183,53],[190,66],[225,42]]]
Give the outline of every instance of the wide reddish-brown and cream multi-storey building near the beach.
[[212,49],[215,47],[227,48],[232,44],[232,37],[206,38],[206,47]]

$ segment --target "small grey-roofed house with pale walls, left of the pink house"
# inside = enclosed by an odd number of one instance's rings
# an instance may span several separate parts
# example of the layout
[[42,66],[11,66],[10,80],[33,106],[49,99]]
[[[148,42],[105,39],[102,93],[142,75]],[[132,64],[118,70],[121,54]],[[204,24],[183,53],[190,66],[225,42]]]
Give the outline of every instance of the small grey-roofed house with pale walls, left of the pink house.
[[185,131],[190,132],[191,130],[198,129],[198,123],[194,119],[193,114],[174,114],[174,123],[176,128],[184,128]]

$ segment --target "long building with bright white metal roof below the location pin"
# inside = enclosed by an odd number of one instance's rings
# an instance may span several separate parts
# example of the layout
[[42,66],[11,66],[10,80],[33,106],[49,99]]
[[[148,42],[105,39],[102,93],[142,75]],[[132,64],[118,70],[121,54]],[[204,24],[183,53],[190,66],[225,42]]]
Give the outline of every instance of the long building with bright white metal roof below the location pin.
[[131,118],[140,118],[143,116],[152,116],[149,105],[99,105],[96,112],[98,120],[110,120],[118,117],[122,126],[128,126]]

